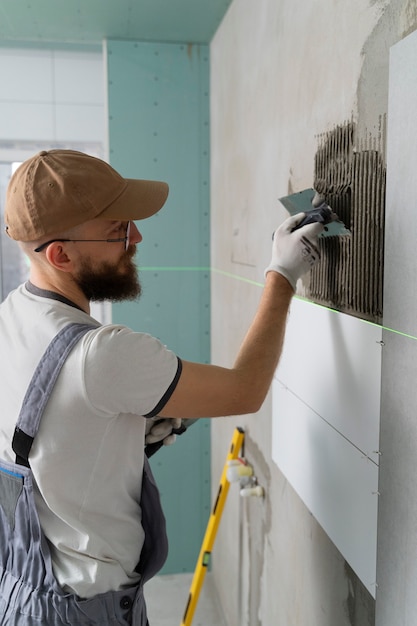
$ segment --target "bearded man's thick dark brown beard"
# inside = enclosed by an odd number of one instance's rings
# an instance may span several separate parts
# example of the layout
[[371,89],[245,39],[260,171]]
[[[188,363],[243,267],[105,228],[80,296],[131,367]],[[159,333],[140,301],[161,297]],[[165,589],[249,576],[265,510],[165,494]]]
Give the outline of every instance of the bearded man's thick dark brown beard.
[[85,297],[93,302],[136,300],[142,293],[142,287],[132,261],[134,254],[135,248],[129,248],[118,265],[103,261],[98,268],[93,268],[90,259],[85,259],[74,281]]

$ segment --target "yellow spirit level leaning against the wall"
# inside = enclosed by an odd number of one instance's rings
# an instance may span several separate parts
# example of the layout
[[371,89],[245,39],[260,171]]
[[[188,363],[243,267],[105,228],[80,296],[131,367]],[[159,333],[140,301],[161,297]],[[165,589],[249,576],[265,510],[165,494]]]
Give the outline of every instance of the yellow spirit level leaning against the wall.
[[219,527],[220,518],[223,513],[226,502],[227,493],[229,491],[230,482],[227,480],[226,472],[228,462],[237,459],[239,452],[243,446],[245,439],[245,431],[242,428],[236,428],[233,433],[232,443],[230,444],[229,453],[226,457],[223,473],[220,479],[219,491],[207,524],[206,533],[203,543],[201,544],[200,555],[194,571],[193,580],[191,582],[188,602],[185,609],[181,626],[190,626],[197,606],[204,578],[206,576],[207,567],[210,563],[211,551],[213,549],[214,540],[216,538],[217,529]]

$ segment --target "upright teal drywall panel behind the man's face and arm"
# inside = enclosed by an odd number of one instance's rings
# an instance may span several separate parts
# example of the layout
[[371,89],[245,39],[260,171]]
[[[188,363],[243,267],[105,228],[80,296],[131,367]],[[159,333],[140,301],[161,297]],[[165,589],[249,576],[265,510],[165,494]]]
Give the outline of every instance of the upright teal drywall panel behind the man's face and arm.
[[[107,42],[110,163],[165,180],[155,216],[137,222],[139,302],[113,320],[158,337],[180,357],[210,361],[209,57],[207,46]],[[201,420],[151,459],[167,517],[162,573],[193,571],[210,515],[210,425]]]

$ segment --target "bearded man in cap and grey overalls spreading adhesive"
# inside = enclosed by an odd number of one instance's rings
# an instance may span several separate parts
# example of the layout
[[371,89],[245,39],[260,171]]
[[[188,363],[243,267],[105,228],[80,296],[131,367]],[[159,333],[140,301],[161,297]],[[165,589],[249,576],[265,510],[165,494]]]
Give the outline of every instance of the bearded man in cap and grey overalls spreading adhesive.
[[[30,278],[0,306],[0,459],[9,503],[0,521],[14,526],[20,555],[2,546],[4,625],[146,626],[143,584],[166,557],[144,457],[147,420],[256,412],[278,363],[295,283],[319,259],[322,226],[293,230],[303,214],[289,218],[274,235],[259,308],[234,366],[182,361],[149,335],[90,317],[92,300],[139,296],[133,257],[142,236],[133,220],[159,211],[167,195],[165,183],[124,179],[69,150],[35,155],[10,181],[6,231],[27,255]],[[14,511],[20,492],[10,499],[9,475],[21,476],[12,440],[42,354],[73,322],[93,327],[70,351],[27,454],[35,502],[27,516],[39,518],[42,531],[25,531],[33,558],[41,555],[31,569],[16,539],[25,517]],[[27,468],[21,472],[27,481]]]

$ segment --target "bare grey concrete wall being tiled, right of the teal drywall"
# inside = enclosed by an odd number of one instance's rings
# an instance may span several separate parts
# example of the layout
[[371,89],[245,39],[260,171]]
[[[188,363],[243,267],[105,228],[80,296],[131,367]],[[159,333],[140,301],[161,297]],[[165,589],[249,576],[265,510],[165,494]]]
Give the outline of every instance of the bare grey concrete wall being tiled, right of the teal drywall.
[[[384,152],[389,50],[416,27],[415,0],[234,0],[211,44],[213,362],[234,360],[286,217],[277,198],[312,186],[318,137],[353,121],[356,147]],[[213,493],[235,425],[266,487],[242,501],[232,486],[222,516],[213,571],[228,624],[371,626],[372,595],[272,462],[271,422],[269,397],[212,428]]]

